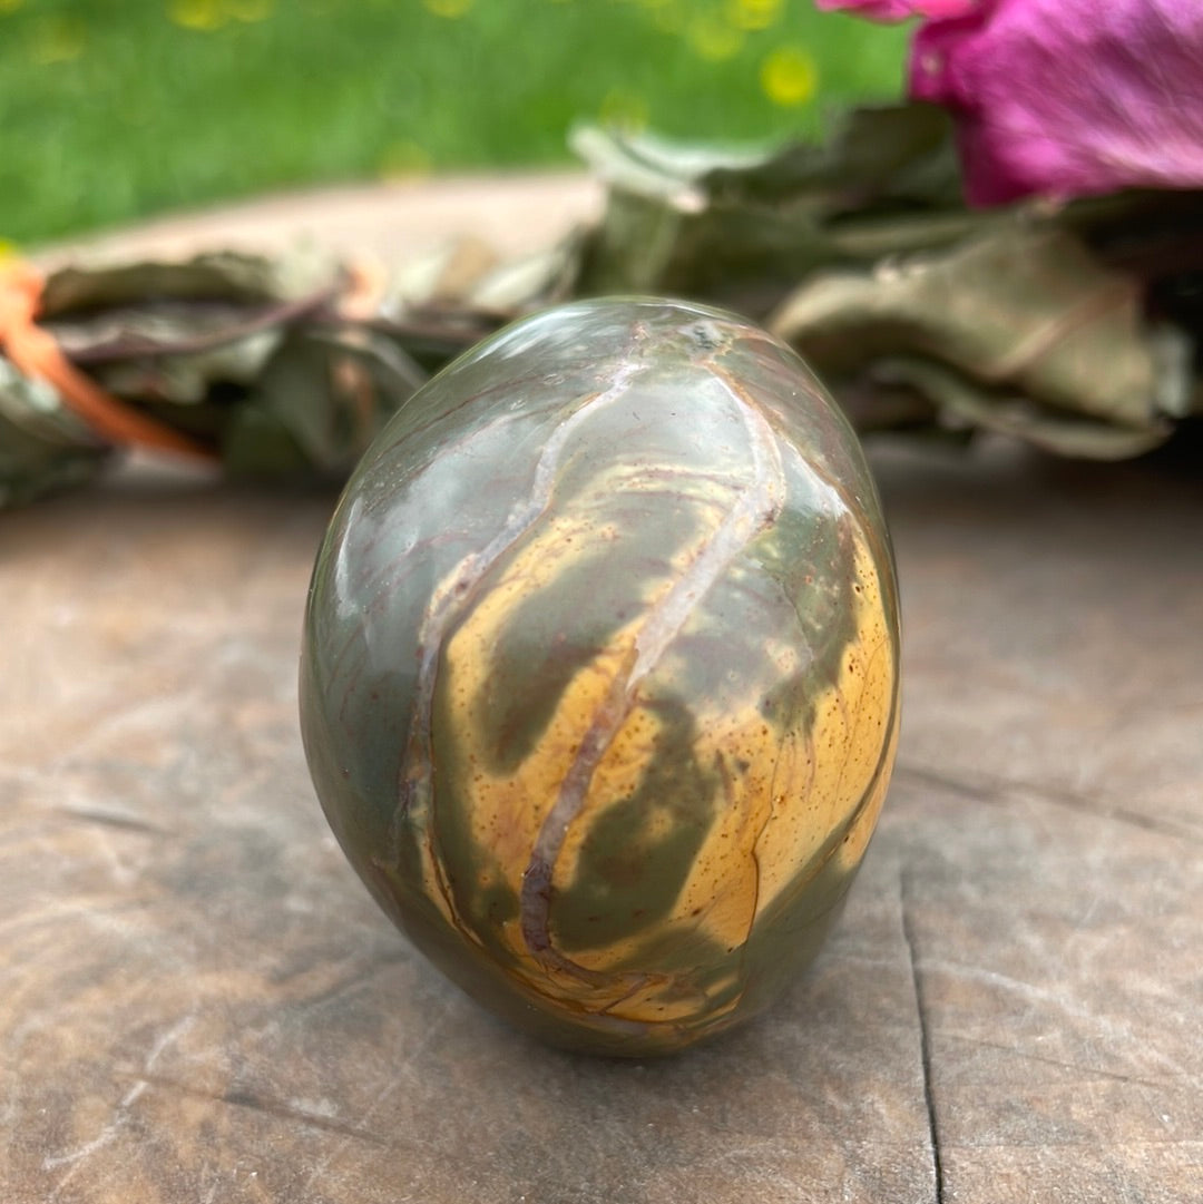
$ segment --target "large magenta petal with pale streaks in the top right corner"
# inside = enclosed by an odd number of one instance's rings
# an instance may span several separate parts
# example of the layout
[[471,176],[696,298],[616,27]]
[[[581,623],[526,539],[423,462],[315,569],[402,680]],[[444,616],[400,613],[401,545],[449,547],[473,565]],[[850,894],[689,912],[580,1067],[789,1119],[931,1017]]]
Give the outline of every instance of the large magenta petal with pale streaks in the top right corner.
[[956,114],[975,205],[1203,187],[1198,0],[990,0],[918,31],[910,92]]

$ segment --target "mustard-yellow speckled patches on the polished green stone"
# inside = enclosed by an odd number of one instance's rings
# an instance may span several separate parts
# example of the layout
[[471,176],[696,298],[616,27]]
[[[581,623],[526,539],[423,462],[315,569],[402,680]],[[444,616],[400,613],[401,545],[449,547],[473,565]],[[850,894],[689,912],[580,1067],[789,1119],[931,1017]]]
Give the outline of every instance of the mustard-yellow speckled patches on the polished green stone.
[[[708,513],[707,502],[701,510],[703,527],[723,512],[715,502]],[[518,607],[548,586],[583,548],[596,547],[598,538],[598,530],[579,513],[561,515],[530,532],[501,579],[476,601],[444,650],[440,690],[447,701],[441,714],[449,731],[441,738],[454,742],[453,760],[462,767],[456,805],[465,808],[473,839],[493,850],[505,885],[518,897],[541,828],[590,728],[597,724],[608,744],[559,846],[553,885],[560,889],[573,881],[597,818],[639,789],[657,751],[660,719],[641,703],[638,687],[625,694],[620,689],[615,700],[615,683],[630,677],[648,612],[671,589],[696,547],[683,549],[666,566],[665,576],[649,580],[648,596],[641,600],[635,619],[577,671],[538,744],[520,765],[508,773],[490,771],[486,750],[478,743],[473,708],[486,686],[502,632]],[[697,538],[704,541],[704,532]],[[879,768],[883,750],[892,746],[897,731],[896,660],[881,583],[859,535],[850,567],[859,583],[854,596],[857,638],[844,650],[838,680],[814,700],[813,722],[807,730],[780,733],[760,713],[759,696],[718,713],[707,713],[706,700],[694,701],[700,733],[695,756],[700,765],[718,768],[725,797],[720,797],[718,816],[662,922],[664,933],[701,933],[735,951],[747,942],[766,907],[786,889],[798,889],[800,875],[821,868],[816,858],[832,838],[842,840],[831,854],[837,864],[851,870],[859,863],[889,780],[889,773],[879,773]],[[766,647],[766,656],[783,678],[800,666],[798,650],[786,644]],[[614,715],[615,704],[621,714]],[[617,722],[613,730],[606,727],[607,708]],[[650,820],[655,839],[670,831],[673,811],[665,807]],[[427,861],[426,877],[427,886],[440,887],[440,867]],[[440,887],[431,890],[430,897],[441,901],[448,920],[455,923],[449,892]],[[619,973],[618,967],[648,939],[645,931],[603,949],[573,954],[565,966],[536,958],[519,920],[509,921],[501,937],[530,990],[582,1013],[649,1023],[684,1021],[709,1013],[709,999],[731,987],[730,982],[712,985],[703,996],[686,985],[688,975],[683,982],[666,974]],[[733,998],[731,1007],[736,1002]]]

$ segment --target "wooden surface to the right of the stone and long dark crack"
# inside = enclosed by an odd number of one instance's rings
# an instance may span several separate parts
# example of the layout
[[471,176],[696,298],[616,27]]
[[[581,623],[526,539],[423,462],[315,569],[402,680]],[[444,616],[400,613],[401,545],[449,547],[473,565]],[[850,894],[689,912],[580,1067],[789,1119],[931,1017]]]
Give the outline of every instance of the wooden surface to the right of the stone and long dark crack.
[[879,474],[909,619],[879,839],[943,1198],[1203,1199],[1196,471],[895,453]]

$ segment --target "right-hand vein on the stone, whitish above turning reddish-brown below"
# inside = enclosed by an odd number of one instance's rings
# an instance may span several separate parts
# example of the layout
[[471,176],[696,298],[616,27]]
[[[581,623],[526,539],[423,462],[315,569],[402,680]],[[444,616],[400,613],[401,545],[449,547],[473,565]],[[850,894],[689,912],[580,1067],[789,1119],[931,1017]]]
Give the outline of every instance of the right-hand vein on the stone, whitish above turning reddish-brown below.
[[552,944],[552,875],[568,828],[584,809],[594,774],[631,713],[641,684],[660,663],[697,603],[751,539],[777,518],[785,502],[785,472],[773,429],[759,407],[721,377],[715,379],[743,419],[751,450],[751,480],[690,566],[648,613],[635,637],[633,653],[625,659],[594,713],[556,799],[543,819],[523,875],[520,916],[527,949],[544,966],[586,981],[594,979],[592,972],[565,957]]

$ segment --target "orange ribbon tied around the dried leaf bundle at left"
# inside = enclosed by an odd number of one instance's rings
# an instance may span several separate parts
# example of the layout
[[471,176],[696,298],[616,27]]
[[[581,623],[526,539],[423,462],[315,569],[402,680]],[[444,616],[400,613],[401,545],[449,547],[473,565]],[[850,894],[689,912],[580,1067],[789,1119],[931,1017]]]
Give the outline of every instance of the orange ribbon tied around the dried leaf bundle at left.
[[64,405],[110,443],[212,460],[202,443],[128,406],[71,364],[54,336],[37,325],[42,287],[41,273],[29,264],[0,264],[0,349],[12,364],[53,385]]

